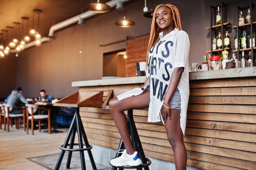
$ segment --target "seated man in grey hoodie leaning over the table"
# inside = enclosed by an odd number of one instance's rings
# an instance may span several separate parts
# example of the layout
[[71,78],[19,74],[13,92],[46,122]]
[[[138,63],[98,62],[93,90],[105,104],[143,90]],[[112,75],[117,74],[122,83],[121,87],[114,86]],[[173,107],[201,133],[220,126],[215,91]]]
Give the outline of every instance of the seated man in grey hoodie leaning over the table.
[[[21,103],[29,104],[29,102],[33,103],[33,99],[25,99],[22,95],[22,88],[16,87],[7,100],[7,104],[11,104],[13,106],[19,106]],[[10,109],[10,114],[22,114],[22,109],[12,108]]]

